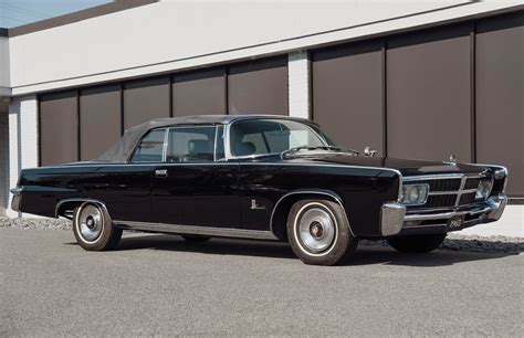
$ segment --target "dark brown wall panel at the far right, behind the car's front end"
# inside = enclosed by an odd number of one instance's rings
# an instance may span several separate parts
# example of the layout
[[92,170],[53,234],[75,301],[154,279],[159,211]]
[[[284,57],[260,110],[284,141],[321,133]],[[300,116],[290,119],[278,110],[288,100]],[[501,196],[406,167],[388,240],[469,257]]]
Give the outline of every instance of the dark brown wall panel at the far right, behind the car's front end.
[[476,160],[506,166],[524,196],[524,13],[479,22],[475,55]]

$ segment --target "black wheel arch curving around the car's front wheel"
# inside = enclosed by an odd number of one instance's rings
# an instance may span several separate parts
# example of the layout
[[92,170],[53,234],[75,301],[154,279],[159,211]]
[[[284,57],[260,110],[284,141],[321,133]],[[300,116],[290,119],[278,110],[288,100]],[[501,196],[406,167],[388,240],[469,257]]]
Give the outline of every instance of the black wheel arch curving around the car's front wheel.
[[287,215],[290,214],[291,207],[300,200],[328,200],[339,203],[339,201],[328,193],[314,193],[314,192],[304,192],[304,193],[292,193],[284,197],[276,204],[275,210],[273,211],[273,216],[271,218],[271,230],[275,236],[281,241],[287,241]]

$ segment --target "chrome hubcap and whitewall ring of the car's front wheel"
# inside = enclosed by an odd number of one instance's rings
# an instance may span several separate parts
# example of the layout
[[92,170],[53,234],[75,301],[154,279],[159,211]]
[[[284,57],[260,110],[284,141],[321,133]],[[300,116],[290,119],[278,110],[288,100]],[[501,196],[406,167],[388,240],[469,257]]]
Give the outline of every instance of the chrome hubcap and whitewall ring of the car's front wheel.
[[304,246],[313,253],[319,253],[333,244],[336,226],[328,211],[313,207],[302,213],[297,230]]

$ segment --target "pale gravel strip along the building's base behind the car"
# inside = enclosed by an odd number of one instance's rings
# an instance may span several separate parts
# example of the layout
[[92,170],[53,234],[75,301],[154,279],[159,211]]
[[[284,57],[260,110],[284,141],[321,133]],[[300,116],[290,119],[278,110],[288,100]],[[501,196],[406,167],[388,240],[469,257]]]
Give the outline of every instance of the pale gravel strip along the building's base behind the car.
[[[71,230],[72,223],[70,220],[57,219],[0,219],[0,228]],[[361,240],[359,245],[388,246],[388,243],[386,241]],[[449,251],[518,254],[524,252],[524,237],[483,237],[449,234],[440,249]]]

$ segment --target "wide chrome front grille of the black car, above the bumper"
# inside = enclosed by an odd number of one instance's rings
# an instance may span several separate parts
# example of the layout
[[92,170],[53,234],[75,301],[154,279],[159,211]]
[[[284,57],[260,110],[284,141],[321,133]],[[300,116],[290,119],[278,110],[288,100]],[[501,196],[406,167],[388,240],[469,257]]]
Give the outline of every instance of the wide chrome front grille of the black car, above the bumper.
[[444,175],[434,177],[407,177],[404,184],[428,184],[428,200],[422,205],[408,209],[438,209],[469,205],[475,202],[476,188],[485,176]]

